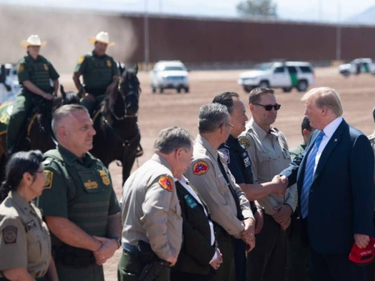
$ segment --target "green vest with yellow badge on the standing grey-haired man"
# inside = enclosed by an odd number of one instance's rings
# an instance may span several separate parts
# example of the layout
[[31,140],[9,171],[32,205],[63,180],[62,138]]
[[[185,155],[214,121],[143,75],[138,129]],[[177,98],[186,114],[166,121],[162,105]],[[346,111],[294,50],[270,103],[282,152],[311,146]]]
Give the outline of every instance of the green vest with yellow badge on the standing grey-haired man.
[[91,154],[89,167],[68,164],[57,149],[47,151],[43,161],[55,161],[68,188],[68,219],[90,235],[106,237],[112,183],[108,170]]

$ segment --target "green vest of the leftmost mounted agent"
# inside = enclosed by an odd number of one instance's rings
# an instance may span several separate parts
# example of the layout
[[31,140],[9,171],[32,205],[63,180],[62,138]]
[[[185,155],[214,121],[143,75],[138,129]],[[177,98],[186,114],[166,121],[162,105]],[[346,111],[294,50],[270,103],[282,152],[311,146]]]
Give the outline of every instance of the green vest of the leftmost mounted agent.
[[[35,62],[29,56],[25,56],[24,62],[27,64],[30,82],[42,91],[51,93],[48,60],[39,55],[37,62]],[[23,87],[23,93],[30,93],[30,91],[26,87]]]

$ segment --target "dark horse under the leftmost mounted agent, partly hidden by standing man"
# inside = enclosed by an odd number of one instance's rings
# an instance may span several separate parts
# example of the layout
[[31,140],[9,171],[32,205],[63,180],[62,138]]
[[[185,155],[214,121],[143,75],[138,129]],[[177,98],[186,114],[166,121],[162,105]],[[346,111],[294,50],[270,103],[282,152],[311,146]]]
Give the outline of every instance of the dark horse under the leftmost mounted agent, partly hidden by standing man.
[[[60,106],[67,104],[79,104],[80,100],[76,93],[65,92],[60,86],[61,96],[54,96],[51,101],[45,100],[36,105],[30,117],[21,129],[17,142],[17,150],[39,149],[45,152],[56,146],[51,128],[52,112]],[[4,177],[4,168],[9,155],[6,154],[6,134],[0,136],[0,180]]]

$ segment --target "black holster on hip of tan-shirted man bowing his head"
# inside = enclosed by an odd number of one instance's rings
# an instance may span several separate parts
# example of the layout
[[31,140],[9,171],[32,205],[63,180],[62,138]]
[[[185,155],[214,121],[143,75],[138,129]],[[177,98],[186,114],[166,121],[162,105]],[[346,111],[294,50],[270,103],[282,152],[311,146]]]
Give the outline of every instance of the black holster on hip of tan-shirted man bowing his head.
[[136,248],[136,258],[146,264],[139,275],[138,281],[153,281],[159,276],[163,268],[169,268],[169,262],[159,259],[147,242],[140,240]]

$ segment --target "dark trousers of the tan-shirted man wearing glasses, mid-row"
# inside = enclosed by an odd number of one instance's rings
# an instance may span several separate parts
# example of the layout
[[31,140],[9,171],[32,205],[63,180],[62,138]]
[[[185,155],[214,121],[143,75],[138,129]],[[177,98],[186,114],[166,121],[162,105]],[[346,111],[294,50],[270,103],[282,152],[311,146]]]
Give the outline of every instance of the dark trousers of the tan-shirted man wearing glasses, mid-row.
[[215,232],[216,241],[219,245],[220,252],[223,255],[223,262],[217,269],[212,279],[213,281],[235,281],[236,270],[234,266],[234,243],[233,236],[221,229],[219,232]]

